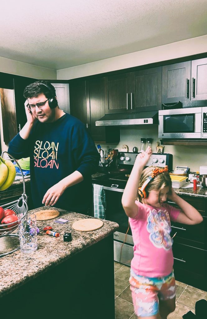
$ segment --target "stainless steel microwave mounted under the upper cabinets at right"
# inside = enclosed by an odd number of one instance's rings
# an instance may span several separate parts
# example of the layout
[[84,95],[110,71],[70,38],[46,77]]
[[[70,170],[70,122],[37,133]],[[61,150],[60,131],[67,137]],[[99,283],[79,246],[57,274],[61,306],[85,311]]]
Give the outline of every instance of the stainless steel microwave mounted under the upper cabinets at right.
[[159,138],[207,138],[207,107],[159,111]]

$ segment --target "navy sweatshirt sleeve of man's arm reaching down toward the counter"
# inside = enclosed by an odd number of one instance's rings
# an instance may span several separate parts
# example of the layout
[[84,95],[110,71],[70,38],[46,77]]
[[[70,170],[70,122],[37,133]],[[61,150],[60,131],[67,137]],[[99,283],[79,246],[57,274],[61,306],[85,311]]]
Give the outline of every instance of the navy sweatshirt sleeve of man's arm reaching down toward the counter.
[[84,124],[76,126],[72,134],[72,152],[77,163],[77,171],[84,179],[91,178],[91,175],[98,170],[100,154],[86,131]]

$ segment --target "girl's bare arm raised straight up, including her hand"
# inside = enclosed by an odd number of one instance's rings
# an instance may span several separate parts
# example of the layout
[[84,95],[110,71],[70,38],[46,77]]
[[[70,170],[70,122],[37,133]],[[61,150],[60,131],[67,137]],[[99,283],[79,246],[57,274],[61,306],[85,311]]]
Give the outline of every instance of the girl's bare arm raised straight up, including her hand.
[[135,204],[135,200],[137,198],[139,180],[143,168],[148,162],[151,154],[152,149],[150,147],[147,147],[145,152],[139,153],[137,155],[136,161],[123,192],[122,205],[127,216],[131,218],[134,218],[137,214],[137,205]]

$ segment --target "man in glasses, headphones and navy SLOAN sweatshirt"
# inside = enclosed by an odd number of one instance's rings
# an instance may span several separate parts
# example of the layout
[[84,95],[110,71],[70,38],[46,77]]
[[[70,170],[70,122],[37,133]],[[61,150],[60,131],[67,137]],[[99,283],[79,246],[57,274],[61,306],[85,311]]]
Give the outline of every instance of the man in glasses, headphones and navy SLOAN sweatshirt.
[[87,213],[92,200],[91,175],[100,155],[84,124],[64,113],[55,88],[37,81],[24,90],[27,122],[9,143],[16,159],[30,156],[34,207],[51,205]]

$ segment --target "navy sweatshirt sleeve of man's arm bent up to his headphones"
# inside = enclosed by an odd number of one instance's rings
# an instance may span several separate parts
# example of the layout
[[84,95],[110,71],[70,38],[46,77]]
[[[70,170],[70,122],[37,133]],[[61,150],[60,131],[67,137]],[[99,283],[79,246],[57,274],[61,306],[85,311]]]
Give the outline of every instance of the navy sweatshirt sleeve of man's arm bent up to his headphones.
[[30,139],[23,139],[19,133],[10,141],[8,153],[15,159],[29,157],[29,143]]

